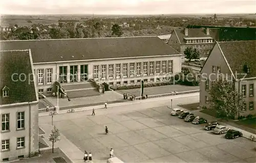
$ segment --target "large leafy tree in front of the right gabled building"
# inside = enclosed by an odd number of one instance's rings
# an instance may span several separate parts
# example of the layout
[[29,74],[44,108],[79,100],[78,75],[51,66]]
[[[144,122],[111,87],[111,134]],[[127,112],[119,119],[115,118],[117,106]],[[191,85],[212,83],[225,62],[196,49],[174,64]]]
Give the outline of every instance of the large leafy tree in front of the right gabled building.
[[231,77],[219,74],[209,90],[211,109],[218,117],[226,120],[239,116],[245,103],[242,94],[239,94],[230,79]]

